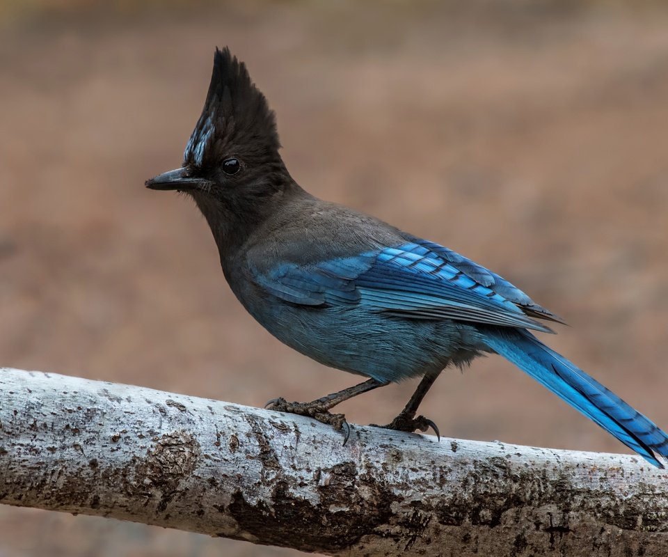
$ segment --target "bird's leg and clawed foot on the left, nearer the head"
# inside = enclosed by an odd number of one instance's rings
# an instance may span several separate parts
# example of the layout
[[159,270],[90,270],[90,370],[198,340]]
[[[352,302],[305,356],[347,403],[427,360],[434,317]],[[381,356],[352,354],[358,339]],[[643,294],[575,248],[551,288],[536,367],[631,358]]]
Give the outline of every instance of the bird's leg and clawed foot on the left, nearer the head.
[[331,414],[330,409],[344,400],[353,398],[353,396],[372,391],[373,389],[377,389],[378,387],[387,384],[387,382],[383,383],[376,381],[376,379],[368,379],[363,383],[348,387],[348,389],[343,389],[342,391],[337,391],[331,395],[312,400],[312,402],[287,402],[285,398],[273,398],[269,400],[264,407],[279,412],[310,416],[319,422],[332,425],[335,430],[343,430],[345,436],[343,444],[345,445],[350,435],[350,427],[346,421],[346,416],[344,414]]

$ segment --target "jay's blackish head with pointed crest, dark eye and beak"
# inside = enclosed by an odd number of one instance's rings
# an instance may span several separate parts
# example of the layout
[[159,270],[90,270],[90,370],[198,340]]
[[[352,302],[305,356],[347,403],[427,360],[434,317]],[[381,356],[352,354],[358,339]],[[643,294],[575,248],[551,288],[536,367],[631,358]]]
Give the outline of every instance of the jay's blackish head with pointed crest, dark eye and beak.
[[279,148],[276,118],[246,65],[227,47],[216,49],[207,100],[182,166],[146,187],[193,196],[212,229],[220,218],[260,218],[256,213],[292,182]]

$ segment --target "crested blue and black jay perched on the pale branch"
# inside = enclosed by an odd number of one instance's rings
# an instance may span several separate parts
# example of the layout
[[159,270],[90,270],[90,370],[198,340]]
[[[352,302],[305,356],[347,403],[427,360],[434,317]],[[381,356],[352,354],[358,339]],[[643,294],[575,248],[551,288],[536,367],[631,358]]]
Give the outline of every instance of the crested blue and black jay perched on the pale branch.
[[[536,338],[563,320],[502,276],[435,242],[305,191],[279,154],[276,116],[246,64],[225,47],[182,165],[145,182],[190,196],[211,228],[223,274],[270,334],[365,381],[311,402],[267,407],[344,430],[330,410],[353,396],[421,378],[385,427],[436,424],[417,409],[440,372],[499,354],[646,461],[664,468],[668,436]],[[345,441],[344,441],[345,442]]]

